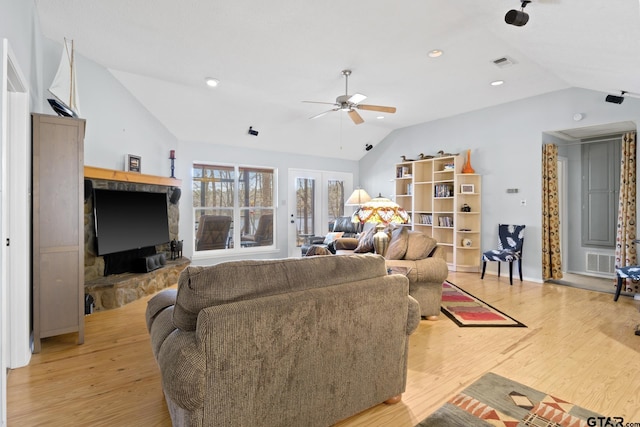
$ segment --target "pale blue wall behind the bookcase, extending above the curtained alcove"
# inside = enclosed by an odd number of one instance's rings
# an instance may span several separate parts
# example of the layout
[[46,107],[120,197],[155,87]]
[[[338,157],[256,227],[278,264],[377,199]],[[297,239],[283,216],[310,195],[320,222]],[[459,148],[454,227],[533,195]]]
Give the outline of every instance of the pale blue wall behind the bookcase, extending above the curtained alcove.
[[[482,175],[482,247],[497,244],[498,223],[526,224],[523,274],[542,280],[541,146],[546,131],[621,121],[640,122],[640,100],[604,102],[606,94],[571,88],[392,132],[360,161],[360,182],[369,192],[393,193],[400,155],[465,152]],[[576,123],[574,113],[585,118]],[[518,188],[518,194],[507,194]],[[570,188],[569,191],[579,191]],[[525,199],[527,205],[520,206]]]

